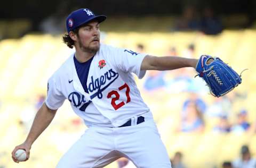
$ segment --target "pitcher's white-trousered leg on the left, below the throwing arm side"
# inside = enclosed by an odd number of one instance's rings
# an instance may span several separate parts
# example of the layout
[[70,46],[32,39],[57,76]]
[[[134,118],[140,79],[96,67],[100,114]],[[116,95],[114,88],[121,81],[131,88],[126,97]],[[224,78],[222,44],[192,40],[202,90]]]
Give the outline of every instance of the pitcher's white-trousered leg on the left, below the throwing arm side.
[[89,128],[64,154],[57,168],[103,167],[119,156],[115,148],[111,129]]

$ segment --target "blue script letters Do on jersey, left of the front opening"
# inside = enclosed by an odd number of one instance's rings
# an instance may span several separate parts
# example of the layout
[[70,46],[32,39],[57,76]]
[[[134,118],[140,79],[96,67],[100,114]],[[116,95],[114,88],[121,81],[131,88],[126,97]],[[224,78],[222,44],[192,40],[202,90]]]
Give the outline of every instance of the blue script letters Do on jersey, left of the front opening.
[[79,108],[81,111],[85,111],[85,108],[91,103],[91,100],[86,101],[84,95],[81,95],[75,91],[68,95],[68,100],[77,108],[82,105]]

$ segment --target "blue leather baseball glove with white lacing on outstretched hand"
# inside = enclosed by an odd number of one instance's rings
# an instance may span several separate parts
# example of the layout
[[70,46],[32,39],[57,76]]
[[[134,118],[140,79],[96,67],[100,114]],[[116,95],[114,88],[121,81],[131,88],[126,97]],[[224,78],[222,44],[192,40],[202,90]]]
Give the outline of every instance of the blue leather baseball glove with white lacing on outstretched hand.
[[220,58],[210,55],[202,55],[199,58],[196,71],[197,75],[207,83],[210,93],[215,97],[229,93],[242,82],[241,75],[238,75]]

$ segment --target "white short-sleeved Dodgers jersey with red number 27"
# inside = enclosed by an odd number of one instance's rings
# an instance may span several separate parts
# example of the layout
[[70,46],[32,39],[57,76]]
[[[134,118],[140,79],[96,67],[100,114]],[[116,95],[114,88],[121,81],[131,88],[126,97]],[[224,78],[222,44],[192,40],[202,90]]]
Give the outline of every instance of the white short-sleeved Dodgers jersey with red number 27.
[[142,78],[146,54],[101,44],[93,56],[87,78],[89,93],[79,81],[74,54],[48,81],[46,105],[58,109],[68,99],[87,127],[119,127],[133,116],[151,113],[143,102],[132,73]]

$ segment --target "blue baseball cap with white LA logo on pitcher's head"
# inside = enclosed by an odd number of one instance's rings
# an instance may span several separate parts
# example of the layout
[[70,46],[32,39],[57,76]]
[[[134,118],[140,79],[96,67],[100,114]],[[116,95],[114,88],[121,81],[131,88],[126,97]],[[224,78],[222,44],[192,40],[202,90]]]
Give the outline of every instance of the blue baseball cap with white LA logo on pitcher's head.
[[83,8],[70,13],[66,19],[68,33],[77,27],[91,20],[97,20],[99,23],[105,21],[107,16],[95,15],[91,10]]

